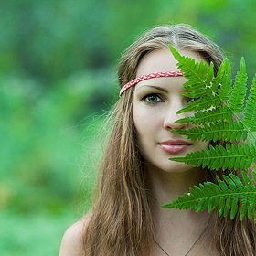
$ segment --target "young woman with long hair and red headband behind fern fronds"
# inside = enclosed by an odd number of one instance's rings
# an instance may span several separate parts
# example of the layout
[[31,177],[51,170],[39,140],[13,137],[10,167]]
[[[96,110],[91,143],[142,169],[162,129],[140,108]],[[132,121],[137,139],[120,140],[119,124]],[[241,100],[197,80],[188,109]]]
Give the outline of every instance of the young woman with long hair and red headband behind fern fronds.
[[216,175],[168,160],[213,144],[170,133],[189,128],[175,123],[189,113],[176,112],[193,99],[181,95],[186,79],[168,44],[182,55],[213,62],[216,73],[224,59],[207,37],[184,25],[151,29],[127,49],[119,68],[122,91],[112,111],[99,197],[91,213],[66,231],[61,256],[256,255],[253,220],[161,208],[189,187],[215,182]]

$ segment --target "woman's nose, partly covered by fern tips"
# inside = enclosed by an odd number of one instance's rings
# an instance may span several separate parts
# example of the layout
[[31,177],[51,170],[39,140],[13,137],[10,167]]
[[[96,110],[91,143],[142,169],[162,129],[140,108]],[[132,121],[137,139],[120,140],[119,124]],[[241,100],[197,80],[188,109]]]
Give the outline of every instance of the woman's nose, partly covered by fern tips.
[[188,123],[175,123],[176,120],[187,117],[187,113],[179,113],[176,114],[180,109],[182,109],[178,103],[171,104],[168,109],[165,111],[165,119],[164,119],[164,127],[167,130],[175,130],[175,129],[186,129]]

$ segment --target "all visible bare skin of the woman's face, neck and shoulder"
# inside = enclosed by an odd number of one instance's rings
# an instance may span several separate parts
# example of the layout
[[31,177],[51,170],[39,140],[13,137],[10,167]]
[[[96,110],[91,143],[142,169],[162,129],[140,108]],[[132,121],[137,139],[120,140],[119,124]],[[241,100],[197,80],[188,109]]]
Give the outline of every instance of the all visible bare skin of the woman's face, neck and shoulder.
[[[181,52],[200,61],[195,52]],[[176,59],[169,50],[155,50],[147,54],[140,62],[136,76],[158,71],[175,71]],[[172,129],[187,129],[190,124],[175,123],[186,115],[176,112],[187,104],[181,95],[186,79],[157,78],[138,83],[133,94],[133,121],[138,134],[138,143],[145,160],[146,179],[152,198],[152,211],[155,217],[156,240],[172,256],[184,256],[207,226],[200,240],[189,256],[218,255],[210,233],[214,219],[209,220],[208,212],[180,211],[164,209],[162,205],[188,192],[189,187],[207,180],[206,172],[200,168],[170,161],[172,156],[185,156],[208,147],[208,143],[189,142],[187,137],[170,133]],[[159,144],[166,140],[183,140],[189,144],[184,151],[169,153]],[[83,254],[81,237],[86,226],[82,221],[71,226],[65,233],[60,247],[60,256],[81,256]],[[118,255],[119,256],[119,255]],[[166,253],[154,243],[151,256],[166,256]]]

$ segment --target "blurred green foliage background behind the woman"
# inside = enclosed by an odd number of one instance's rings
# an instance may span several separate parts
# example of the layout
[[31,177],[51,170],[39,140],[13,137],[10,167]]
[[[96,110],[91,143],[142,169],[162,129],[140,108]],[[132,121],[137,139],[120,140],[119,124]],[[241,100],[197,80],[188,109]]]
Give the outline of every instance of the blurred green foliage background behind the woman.
[[2,256],[58,255],[90,208],[94,136],[118,99],[118,59],[144,30],[187,23],[226,51],[234,72],[244,56],[249,85],[256,70],[254,0],[0,3]]

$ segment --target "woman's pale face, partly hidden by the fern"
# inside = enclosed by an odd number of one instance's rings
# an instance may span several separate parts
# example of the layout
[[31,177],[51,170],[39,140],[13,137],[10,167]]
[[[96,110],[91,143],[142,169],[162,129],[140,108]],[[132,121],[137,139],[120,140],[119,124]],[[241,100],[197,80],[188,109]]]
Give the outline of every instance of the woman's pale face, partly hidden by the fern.
[[[202,59],[196,52],[183,51],[186,55]],[[136,77],[160,71],[176,71],[176,59],[166,49],[157,49],[141,60]],[[186,172],[193,166],[170,161],[170,157],[185,156],[208,147],[208,142],[191,142],[187,136],[170,133],[173,129],[187,129],[191,124],[175,123],[177,119],[192,115],[192,112],[176,114],[192,99],[181,95],[185,91],[184,77],[165,77],[144,80],[135,85],[133,93],[133,121],[140,153],[149,168],[165,172]]]

